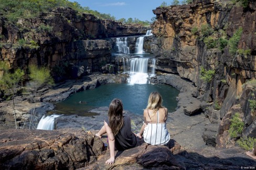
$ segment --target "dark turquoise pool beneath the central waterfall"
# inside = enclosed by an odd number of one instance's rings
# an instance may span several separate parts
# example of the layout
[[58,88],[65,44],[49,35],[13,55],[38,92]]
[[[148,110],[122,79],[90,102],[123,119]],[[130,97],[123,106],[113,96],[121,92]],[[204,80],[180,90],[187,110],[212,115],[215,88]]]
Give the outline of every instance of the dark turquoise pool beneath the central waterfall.
[[68,114],[79,116],[92,116],[89,110],[109,106],[114,98],[123,101],[124,110],[129,110],[136,115],[142,115],[147,106],[148,96],[151,92],[159,92],[163,97],[163,105],[168,112],[175,111],[177,107],[176,96],[179,91],[168,85],[153,84],[106,84],[94,89],[84,90],[73,94],[68,99],[55,104],[55,114]]

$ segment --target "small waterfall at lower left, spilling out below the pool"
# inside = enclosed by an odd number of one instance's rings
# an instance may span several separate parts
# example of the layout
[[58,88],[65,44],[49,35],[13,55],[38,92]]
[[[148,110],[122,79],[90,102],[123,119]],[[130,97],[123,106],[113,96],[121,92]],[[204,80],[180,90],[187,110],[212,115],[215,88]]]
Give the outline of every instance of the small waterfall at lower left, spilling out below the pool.
[[59,116],[60,115],[50,115],[50,116],[44,115],[39,121],[36,129],[54,130],[54,119]]

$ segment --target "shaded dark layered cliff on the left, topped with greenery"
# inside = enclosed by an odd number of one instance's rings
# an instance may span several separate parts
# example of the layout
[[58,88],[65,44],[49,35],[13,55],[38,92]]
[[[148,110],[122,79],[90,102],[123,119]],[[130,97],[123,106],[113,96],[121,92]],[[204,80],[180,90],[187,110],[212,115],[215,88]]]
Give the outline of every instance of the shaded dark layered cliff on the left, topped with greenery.
[[146,30],[63,7],[37,18],[19,19],[17,26],[1,16],[0,59],[24,70],[29,64],[53,69],[71,63],[71,67],[83,66],[85,72],[100,71],[100,63],[110,62],[112,46],[108,41],[94,39],[144,35]]

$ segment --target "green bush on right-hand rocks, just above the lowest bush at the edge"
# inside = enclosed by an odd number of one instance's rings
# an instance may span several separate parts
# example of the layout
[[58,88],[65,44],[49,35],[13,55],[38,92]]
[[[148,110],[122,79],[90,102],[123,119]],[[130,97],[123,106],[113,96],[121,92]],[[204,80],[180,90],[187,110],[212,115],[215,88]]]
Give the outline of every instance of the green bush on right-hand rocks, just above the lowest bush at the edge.
[[230,122],[231,124],[228,130],[229,135],[231,138],[237,138],[239,135],[241,135],[244,126],[238,112],[232,116]]

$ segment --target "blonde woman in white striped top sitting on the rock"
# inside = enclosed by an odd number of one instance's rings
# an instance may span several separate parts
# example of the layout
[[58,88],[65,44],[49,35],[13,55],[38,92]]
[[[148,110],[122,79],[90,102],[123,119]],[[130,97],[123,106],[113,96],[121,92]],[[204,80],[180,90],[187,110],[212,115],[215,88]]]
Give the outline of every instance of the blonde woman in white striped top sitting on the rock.
[[148,97],[146,109],[144,109],[144,122],[138,138],[152,145],[164,145],[170,140],[170,135],[166,129],[168,110],[162,106],[163,99],[158,92],[152,92]]

